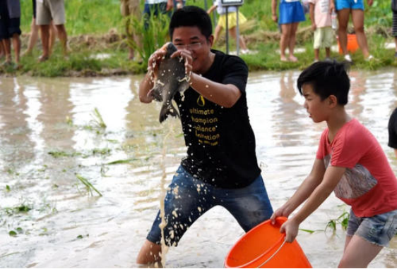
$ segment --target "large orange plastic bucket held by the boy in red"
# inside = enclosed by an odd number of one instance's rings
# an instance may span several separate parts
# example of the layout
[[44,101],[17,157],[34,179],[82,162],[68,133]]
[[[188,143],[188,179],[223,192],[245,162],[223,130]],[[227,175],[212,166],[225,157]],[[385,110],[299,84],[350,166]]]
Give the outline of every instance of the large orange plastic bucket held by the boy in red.
[[225,268],[312,268],[296,240],[284,242],[280,226],[286,220],[266,220],[244,234],[227,254]]

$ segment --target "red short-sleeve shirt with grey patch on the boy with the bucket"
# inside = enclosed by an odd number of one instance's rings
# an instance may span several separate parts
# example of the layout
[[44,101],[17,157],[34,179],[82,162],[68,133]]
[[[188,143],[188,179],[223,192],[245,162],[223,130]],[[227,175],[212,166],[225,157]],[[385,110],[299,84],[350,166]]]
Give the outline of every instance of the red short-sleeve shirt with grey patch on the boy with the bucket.
[[347,168],[334,189],[358,217],[397,209],[397,179],[377,139],[356,119],[345,123],[331,143],[328,128],[321,134],[316,158]]

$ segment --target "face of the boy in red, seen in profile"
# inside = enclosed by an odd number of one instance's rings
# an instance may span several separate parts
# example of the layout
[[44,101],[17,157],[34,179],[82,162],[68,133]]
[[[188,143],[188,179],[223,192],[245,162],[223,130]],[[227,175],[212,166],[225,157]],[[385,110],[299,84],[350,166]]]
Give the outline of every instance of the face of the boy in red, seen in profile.
[[316,94],[311,84],[305,83],[302,85],[302,94],[304,96],[304,108],[306,108],[309,117],[314,123],[321,123],[328,118],[327,100],[321,101],[321,97]]

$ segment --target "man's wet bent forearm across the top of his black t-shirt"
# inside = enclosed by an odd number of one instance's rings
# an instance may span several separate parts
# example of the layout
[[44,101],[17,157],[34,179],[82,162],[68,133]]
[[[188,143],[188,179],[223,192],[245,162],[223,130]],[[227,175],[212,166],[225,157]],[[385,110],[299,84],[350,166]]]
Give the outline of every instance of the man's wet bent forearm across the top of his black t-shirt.
[[235,85],[213,82],[196,73],[191,74],[190,83],[190,86],[204,98],[225,108],[234,106],[242,95]]

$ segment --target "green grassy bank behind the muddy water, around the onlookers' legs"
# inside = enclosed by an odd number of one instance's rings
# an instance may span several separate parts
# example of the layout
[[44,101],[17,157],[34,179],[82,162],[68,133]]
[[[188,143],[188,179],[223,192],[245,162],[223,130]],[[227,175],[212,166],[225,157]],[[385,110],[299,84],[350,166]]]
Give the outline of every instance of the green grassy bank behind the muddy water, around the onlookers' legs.
[[[69,35],[71,54],[69,58],[61,56],[59,42],[49,61],[38,63],[40,42],[31,56],[21,58],[20,68],[0,68],[3,75],[34,75],[34,76],[93,76],[93,75],[125,75],[143,73],[146,70],[145,61],[140,64],[127,60],[127,42],[125,35],[125,20],[120,15],[119,0],[68,0],[66,2],[66,30]],[[271,1],[246,0],[240,9],[250,20],[242,29],[247,44],[256,54],[244,55],[251,70],[285,70],[304,68],[312,63],[312,32],[309,30],[310,20],[300,23],[297,35],[297,53],[299,63],[280,63],[278,51],[278,26],[271,20]],[[212,1],[207,1],[207,8]],[[141,3],[142,4],[142,3]],[[205,8],[204,0],[187,0]],[[21,1],[21,29],[24,51],[28,43],[32,6],[30,1]],[[396,66],[393,49],[385,49],[385,44],[393,42],[391,32],[391,9],[389,1],[374,1],[374,5],[366,8],[365,26],[371,53],[376,61],[365,62],[360,52],[353,54],[355,65],[352,68],[377,69],[384,66]],[[140,30],[142,31],[142,30]],[[146,37],[150,39],[150,35]],[[150,42],[149,42],[150,43]],[[153,42],[152,42],[153,43]],[[161,44],[159,44],[161,45]],[[142,50],[147,58],[155,45],[145,46]],[[230,51],[235,44],[230,44]],[[225,51],[224,40],[215,45],[215,49]],[[321,54],[324,54],[321,51]],[[340,59],[337,52],[333,58]]]

